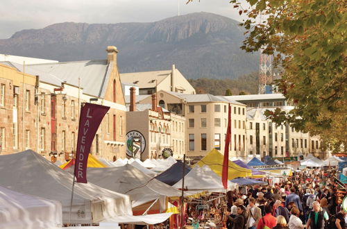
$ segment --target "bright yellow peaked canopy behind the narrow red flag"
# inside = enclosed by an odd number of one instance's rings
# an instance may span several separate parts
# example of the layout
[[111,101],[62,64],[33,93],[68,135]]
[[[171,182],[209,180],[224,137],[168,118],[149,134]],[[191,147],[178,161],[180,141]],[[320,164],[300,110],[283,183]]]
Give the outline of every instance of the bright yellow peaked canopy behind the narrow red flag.
[[[212,169],[212,171],[214,171],[214,173],[217,173],[217,175],[221,177],[223,169],[223,159],[224,155],[219,153],[217,149],[212,149],[210,153],[205,155],[205,157],[203,157],[198,163],[194,164],[194,168],[197,166],[203,167],[204,165],[207,165],[208,167],[210,167],[210,169]],[[251,169],[240,167],[239,165],[229,160],[228,180],[247,176],[252,176]]]

